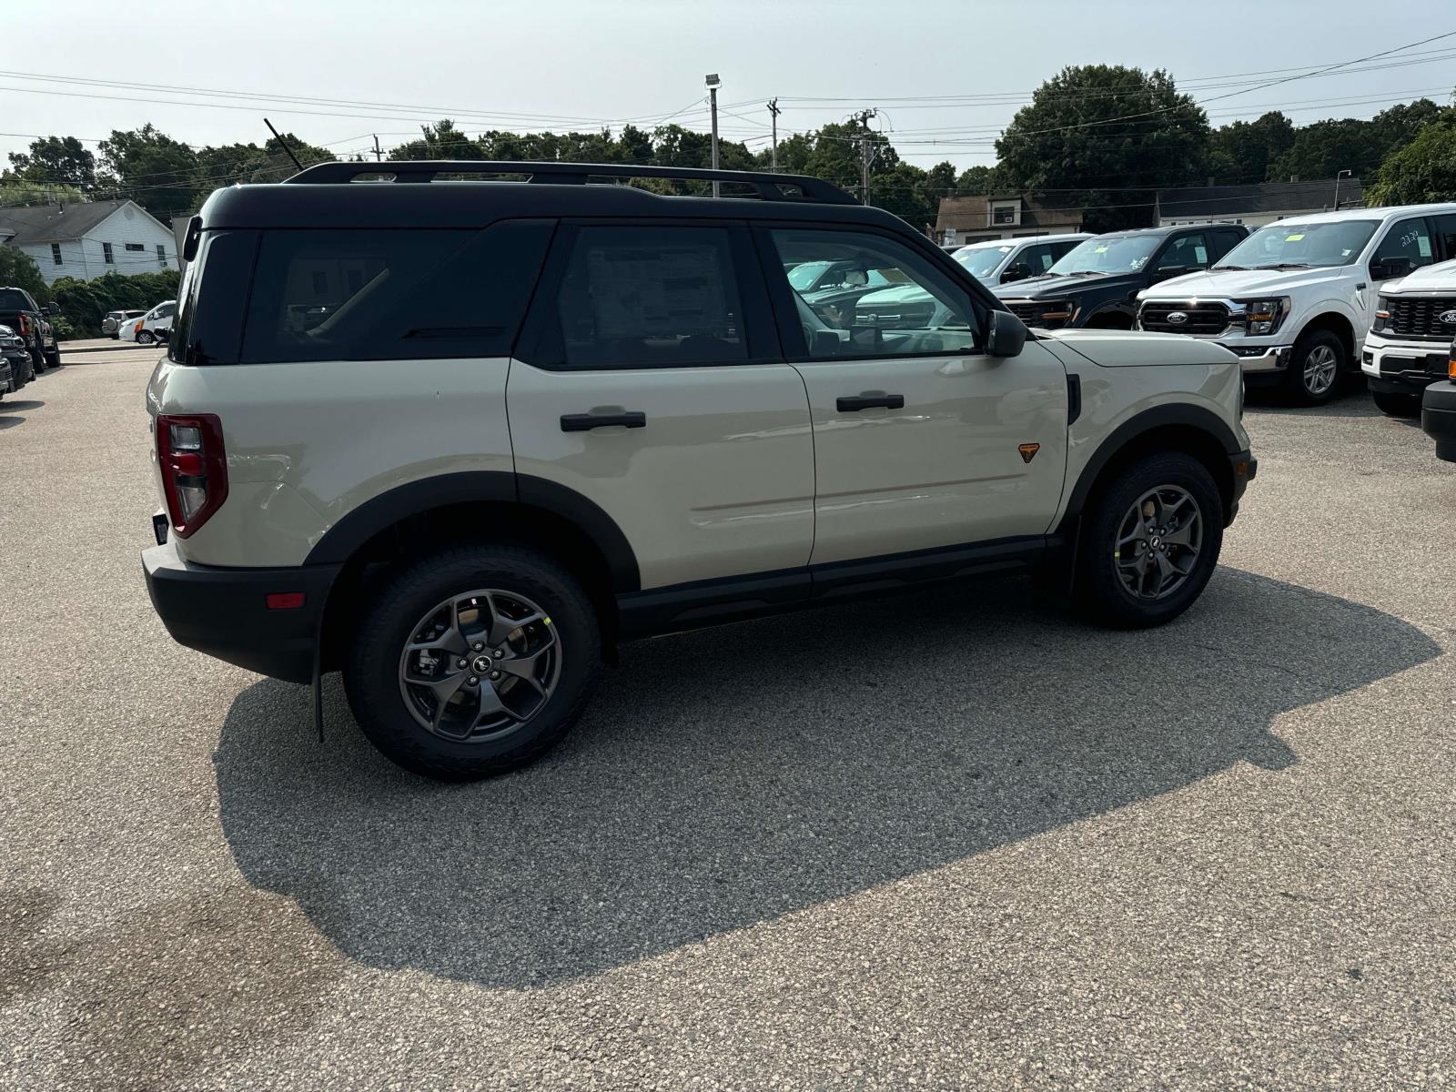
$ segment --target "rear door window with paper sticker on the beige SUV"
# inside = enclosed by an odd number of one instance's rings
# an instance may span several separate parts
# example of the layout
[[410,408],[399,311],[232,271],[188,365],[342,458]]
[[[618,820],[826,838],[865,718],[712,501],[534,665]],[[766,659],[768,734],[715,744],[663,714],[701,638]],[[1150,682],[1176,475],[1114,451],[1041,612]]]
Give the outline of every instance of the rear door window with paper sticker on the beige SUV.
[[569,368],[747,360],[721,227],[582,227],[556,298]]

